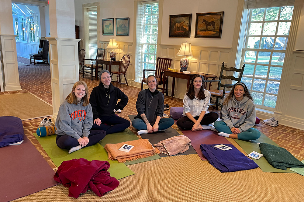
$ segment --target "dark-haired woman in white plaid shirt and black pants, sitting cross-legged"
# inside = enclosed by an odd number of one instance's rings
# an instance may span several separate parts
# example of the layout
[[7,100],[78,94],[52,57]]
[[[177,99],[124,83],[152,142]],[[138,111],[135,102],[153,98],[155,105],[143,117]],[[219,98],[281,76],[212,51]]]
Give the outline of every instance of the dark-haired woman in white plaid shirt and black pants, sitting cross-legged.
[[215,112],[209,112],[210,92],[203,87],[202,75],[195,75],[184,96],[184,117],[177,121],[180,128],[197,131],[214,128],[209,125],[219,118]]

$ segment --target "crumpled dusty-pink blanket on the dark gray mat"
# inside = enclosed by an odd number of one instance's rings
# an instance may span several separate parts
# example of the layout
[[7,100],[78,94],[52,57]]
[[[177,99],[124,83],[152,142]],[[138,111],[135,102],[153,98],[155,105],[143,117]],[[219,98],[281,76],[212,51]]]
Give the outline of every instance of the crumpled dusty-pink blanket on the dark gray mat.
[[190,146],[191,140],[185,135],[170,137],[154,144],[154,147],[157,147],[161,153],[167,154],[168,156],[183,153],[187,151]]

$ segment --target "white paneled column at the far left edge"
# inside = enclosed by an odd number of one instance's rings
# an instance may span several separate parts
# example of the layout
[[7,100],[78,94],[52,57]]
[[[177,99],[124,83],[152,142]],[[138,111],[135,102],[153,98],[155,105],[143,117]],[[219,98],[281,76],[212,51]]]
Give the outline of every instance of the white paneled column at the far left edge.
[[13,28],[12,1],[0,1],[0,87],[1,91],[21,90],[19,83],[16,38]]

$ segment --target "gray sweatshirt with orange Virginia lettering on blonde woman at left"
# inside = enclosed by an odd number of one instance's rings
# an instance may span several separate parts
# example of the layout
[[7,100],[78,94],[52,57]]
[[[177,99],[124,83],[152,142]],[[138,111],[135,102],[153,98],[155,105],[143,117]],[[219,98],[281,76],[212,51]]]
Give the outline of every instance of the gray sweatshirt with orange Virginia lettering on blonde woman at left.
[[77,140],[88,137],[93,125],[93,113],[91,104],[83,106],[83,101],[78,104],[70,104],[67,100],[60,105],[55,122],[57,135],[70,135]]

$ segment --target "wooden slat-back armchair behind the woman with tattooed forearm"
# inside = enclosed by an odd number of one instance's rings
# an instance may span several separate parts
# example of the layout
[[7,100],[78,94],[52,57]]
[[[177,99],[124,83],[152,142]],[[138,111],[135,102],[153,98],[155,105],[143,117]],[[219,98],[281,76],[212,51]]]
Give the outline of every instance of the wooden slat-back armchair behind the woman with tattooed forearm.
[[[143,79],[141,80],[141,90],[143,90],[143,83],[147,83],[147,78],[145,76],[145,71],[155,71],[155,77],[157,79],[157,85],[165,85],[165,93],[168,96],[168,77],[164,78],[164,70],[168,70],[171,66],[171,58],[157,58],[156,68],[155,69],[144,69],[143,70]],[[162,89],[157,86],[157,89]]]

